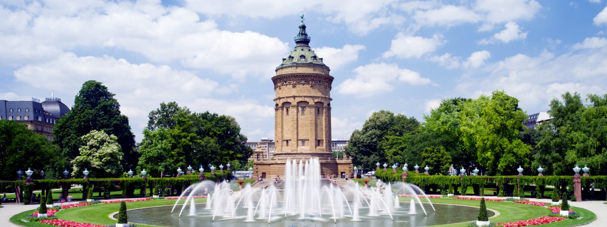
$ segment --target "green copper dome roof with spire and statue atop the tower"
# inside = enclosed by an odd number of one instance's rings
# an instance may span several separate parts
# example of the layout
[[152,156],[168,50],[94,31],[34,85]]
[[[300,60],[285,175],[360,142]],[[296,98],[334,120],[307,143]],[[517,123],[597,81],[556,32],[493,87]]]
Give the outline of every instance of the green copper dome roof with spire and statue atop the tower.
[[292,65],[316,65],[329,68],[322,62],[322,58],[316,56],[316,53],[314,53],[312,48],[310,48],[310,45],[308,45],[310,44],[311,38],[305,31],[304,13],[302,13],[300,17],[301,23],[299,24],[299,33],[297,33],[294,38],[296,44],[295,48],[293,48],[287,58],[282,59],[282,64],[280,64],[279,67],[276,67],[276,69]]

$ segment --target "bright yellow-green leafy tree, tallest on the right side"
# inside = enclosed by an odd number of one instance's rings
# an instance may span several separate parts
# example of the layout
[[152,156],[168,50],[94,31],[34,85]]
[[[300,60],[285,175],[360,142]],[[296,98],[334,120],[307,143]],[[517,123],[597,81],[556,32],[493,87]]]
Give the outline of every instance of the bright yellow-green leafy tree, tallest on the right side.
[[465,102],[461,111],[464,147],[476,151],[479,165],[489,175],[510,174],[513,166],[529,166],[529,151],[517,135],[527,115],[518,108],[518,99],[503,91]]

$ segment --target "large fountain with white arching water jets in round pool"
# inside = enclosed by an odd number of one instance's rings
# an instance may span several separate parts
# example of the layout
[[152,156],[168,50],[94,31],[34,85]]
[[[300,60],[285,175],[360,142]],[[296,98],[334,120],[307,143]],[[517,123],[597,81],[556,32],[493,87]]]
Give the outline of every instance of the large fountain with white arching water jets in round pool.
[[[330,222],[348,226],[416,226],[466,222],[476,217],[474,208],[439,205],[439,208],[447,209],[444,212],[471,209],[469,213],[472,214],[470,217],[461,217],[461,220],[453,220],[452,217],[449,222],[441,220],[443,218],[440,216],[444,215],[435,215],[438,211],[427,197],[427,202],[422,203],[423,198],[419,197],[425,196],[423,191],[408,183],[385,184],[378,181],[376,187],[364,188],[351,180],[341,181],[342,185],[337,185],[328,179],[321,179],[320,175],[318,159],[289,160],[285,165],[285,179],[277,186],[245,185],[238,190],[234,183],[215,183],[207,180],[186,188],[170,209],[158,207],[141,210],[168,209],[166,212],[172,218],[163,220],[163,223],[155,222],[156,225],[164,226],[196,226],[198,222],[217,222],[222,226],[257,226],[262,223],[296,226],[305,223],[314,226],[319,223],[328,225]],[[404,194],[397,195],[395,192]],[[206,203],[203,204],[200,200],[195,202],[195,199],[205,195],[208,196]],[[401,206],[399,197],[402,196],[411,197],[409,210],[406,206]],[[418,208],[424,211],[423,214],[416,214]],[[188,215],[182,215],[186,209]],[[129,213],[129,218],[135,216],[137,215]],[[410,220],[415,220],[415,223],[410,223]],[[164,223],[165,221],[167,223]],[[138,220],[132,222],[141,223]]]

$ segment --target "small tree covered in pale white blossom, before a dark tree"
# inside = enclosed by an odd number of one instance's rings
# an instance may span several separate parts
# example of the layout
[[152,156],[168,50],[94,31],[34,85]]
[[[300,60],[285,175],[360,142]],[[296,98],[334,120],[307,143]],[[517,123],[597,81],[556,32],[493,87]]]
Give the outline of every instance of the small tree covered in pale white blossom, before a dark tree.
[[84,168],[90,169],[90,177],[120,176],[123,171],[120,165],[123,153],[120,151],[116,136],[108,136],[103,131],[92,130],[81,139],[85,145],[80,148],[80,156],[72,160],[72,176],[82,176]]

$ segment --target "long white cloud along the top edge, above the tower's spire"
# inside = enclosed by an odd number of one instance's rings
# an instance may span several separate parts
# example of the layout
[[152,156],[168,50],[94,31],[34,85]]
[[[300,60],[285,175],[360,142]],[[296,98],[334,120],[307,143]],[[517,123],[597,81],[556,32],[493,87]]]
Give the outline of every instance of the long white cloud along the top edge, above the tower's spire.
[[365,35],[382,25],[398,25],[404,18],[388,9],[396,0],[310,0],[297,1],[186,1],[186,8],[211,16],[248,16],[251,18],[279,18],[316,12],[327,16],[327,21],[343,23],[356,34]]

